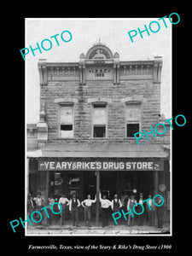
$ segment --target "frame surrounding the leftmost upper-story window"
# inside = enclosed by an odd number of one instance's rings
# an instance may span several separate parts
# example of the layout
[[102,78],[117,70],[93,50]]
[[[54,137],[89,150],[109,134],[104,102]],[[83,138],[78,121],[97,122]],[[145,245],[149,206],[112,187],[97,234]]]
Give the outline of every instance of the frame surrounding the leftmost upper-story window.
[[[62,107],[71,107],[72,108],[72,114],[73,114],[73,121],[72,123],[61,123],[61,108]],[[70,139],[74,137],[74,103],[73,102],[60,102],[58,104],[58,111],[57,111],[58,115],[57,115],[57,126],[58,126],[58,138],[60,139]],[[61,137],[61,125],[73,125],[73,135],[72,137]]]

